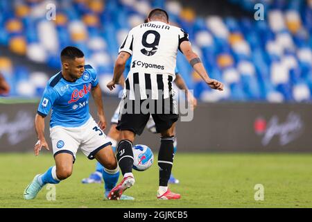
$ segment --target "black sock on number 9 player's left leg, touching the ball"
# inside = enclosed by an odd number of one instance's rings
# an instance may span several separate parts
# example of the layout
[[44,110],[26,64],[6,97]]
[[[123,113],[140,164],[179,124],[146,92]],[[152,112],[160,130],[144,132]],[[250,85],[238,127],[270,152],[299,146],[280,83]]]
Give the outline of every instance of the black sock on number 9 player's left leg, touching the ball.
[[132,173],[132,164],[133,164],[133,151],[132,151],[132,142],[128,139],[122,139],[117,148],[117,161],[121,173]]

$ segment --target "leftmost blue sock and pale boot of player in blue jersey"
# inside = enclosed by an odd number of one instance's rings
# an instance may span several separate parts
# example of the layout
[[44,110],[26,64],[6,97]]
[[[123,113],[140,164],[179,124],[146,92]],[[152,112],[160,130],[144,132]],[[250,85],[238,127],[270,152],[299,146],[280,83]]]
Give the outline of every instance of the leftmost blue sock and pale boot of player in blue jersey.
[[34,199],[47,183],[58,184],[60,180],[56,177],[55,169],[55,166],[50,167],[45,173],[37,174],[24,190],[24,198],[26,200]]

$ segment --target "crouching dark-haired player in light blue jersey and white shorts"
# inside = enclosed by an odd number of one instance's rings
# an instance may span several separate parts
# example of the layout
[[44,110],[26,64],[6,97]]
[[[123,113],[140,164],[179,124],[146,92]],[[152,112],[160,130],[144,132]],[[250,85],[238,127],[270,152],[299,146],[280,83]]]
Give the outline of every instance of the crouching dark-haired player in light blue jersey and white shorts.
[[[89,160],[95,158],[103,166],[104,196],[107,197],[118,181],[119,167],[112,150],[112,142],[103,133],[106,121],[96,71],[90,65],[85,65],[85,56],[76,47],[67,46],[60,57],[62,71],[47,83],[35,116],[38,139],[35,155],[38,155],[42,147],[49,150],[44,137],[44,117],[52,110],[50,137],[55,166],[33,178],[24,191],[24,198],[33,199],[47,183],[58,184],[69,178],[78,148],[81,148]],[[96,104],[98,123],[89,114],[90,94]],[[120,199],[133,200],[125,195]]]

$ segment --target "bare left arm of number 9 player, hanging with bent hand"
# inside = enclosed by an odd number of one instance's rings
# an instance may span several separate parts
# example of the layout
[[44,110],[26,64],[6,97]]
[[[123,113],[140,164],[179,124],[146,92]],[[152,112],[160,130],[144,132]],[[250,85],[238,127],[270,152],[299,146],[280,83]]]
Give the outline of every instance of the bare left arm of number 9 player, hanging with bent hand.
[[114,65],[113,79],[106,85],[108,89],[112,90],[115,88],[116,84],[120,84],[120,78],[123,75],[123,71],[125,70],[125,62],[127,62],[130,56],[131,55],[125,51],[121,51],[121,53],[119,53]]

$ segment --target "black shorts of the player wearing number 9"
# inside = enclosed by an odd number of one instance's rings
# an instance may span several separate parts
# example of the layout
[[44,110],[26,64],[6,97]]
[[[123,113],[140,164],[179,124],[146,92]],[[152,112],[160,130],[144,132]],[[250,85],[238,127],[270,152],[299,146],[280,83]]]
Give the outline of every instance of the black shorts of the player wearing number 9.
[[141,135],[148,119],[150,119],[150,114],[155,121],[157,133],[168,130],[179,119],[172,96],[168,99],[162,99],[162,101],[123,99],[116,129],[130,130],[136,135]]

